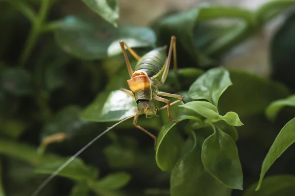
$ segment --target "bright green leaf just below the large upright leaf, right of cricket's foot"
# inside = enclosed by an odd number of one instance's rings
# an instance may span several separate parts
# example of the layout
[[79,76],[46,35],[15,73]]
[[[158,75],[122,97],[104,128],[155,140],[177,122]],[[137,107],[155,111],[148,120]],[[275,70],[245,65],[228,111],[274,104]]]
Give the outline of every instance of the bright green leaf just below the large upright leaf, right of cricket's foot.
[[186,104],[180,105],[179,107],[191,109],[208,119],[216,120],[220,118],[217,108],[211,103],[206,101],[192,101],[192,102],[188,102]]

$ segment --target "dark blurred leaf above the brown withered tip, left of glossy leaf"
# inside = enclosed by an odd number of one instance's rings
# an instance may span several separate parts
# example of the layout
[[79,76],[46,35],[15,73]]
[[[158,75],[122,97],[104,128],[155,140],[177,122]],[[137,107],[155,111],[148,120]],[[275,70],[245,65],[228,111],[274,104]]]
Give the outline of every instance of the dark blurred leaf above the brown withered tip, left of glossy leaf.
[[82,109],[78,106],[69,105],[61,109],[53,120],[44,125],[42,137],[58,133],[65,133],[66,137],[71,137],[85,130],[98,128],[97,124],[80,119],[81,112]]

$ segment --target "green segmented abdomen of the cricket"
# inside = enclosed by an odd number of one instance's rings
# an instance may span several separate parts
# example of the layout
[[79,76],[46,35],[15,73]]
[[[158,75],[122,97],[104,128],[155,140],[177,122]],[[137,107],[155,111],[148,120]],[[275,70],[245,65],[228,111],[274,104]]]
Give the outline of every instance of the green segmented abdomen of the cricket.
[[154,49],[144,55],[135,65],[135,71],[143,70],[149,77],[156,75],[166,61],[166,47]]

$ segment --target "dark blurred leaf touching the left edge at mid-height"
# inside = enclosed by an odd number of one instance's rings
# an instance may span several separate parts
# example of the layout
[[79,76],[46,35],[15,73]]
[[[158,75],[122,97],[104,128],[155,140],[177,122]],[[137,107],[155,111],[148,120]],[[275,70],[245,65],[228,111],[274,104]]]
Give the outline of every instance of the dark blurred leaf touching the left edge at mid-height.
[[21,68],[7,68],[0,75],[0,88],[15,96],[33,93],[30,73]]

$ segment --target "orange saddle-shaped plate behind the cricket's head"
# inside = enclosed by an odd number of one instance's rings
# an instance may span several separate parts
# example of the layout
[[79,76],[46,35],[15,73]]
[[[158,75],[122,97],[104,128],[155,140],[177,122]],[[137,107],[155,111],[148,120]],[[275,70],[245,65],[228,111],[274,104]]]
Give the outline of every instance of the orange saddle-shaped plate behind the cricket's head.
[[150,80],[145,71],[136,71],[133,73],[130,80],[127,80],[130,90],[135,93],[138,90],[150,88]]

